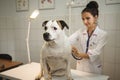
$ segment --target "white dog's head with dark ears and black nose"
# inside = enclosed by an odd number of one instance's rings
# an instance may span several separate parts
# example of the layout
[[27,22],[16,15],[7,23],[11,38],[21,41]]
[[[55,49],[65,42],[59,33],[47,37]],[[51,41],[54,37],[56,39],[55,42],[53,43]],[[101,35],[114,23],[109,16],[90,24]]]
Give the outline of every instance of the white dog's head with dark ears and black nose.
[[54,41],[59,39],[60,35],[64,34],[64,28],[69,29],[68,25],[63,20],[49,20],[44,21],[42,26],[45,32],[43,38],[45,41]]

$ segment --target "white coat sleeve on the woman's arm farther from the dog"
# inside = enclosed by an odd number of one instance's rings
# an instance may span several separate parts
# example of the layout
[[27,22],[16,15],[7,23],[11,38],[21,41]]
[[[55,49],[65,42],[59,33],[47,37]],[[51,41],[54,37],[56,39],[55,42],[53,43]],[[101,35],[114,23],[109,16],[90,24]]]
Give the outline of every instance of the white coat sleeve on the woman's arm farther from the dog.
[[94,49],[88,50],[88,55],[91,62],[96,61],[100,57],[100,53],[102,52],[103,47],[106,43],[107,43],[107,33],[104,33],[99,37],[97,46]]

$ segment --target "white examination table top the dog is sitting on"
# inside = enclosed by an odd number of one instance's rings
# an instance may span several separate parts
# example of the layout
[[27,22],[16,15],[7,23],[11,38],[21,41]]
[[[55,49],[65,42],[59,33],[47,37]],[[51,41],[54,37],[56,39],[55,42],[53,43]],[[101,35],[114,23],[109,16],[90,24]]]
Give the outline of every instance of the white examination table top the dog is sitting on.
[[[1,72],[0,76],[11,80],[34,80],[35,77],[39,74],[39,71],[40,63],[32,62]],[[71,73],[74,80],[108,80],[109,78],[109,76],[106,75],[87,73],[73,69],[71,69]]]

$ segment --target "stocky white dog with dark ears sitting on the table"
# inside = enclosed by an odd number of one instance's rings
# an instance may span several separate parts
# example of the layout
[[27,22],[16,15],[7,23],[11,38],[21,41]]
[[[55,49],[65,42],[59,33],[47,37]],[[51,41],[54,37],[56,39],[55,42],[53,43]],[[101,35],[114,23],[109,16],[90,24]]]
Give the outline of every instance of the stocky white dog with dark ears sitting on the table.
[[44,21],[42,26],[45,30],[43,33],[45,43],[40,54],[41,71],[36,80],[42,77],[44,80],[53,80],[53,77],[73,80],[69,60],[71,45],[64,31],[64,28],[69,29],[68,25],[63,20],[48,20]]

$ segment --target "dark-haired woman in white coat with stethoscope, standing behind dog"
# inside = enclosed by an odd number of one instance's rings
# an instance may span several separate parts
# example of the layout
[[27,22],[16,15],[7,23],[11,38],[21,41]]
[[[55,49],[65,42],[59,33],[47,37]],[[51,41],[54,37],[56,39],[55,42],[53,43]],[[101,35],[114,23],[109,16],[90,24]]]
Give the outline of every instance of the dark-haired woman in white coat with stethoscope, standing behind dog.
[[[77,70],[99,73],[102,72],[100,54],[107,42],[107,33],[97,24],[99,16],[98,3],[91,1],[81,12],[85,29],[73,33],[69,40],[72,45],[72,56],[77,60]],[[78,44],[78,49],[74,44]]]

